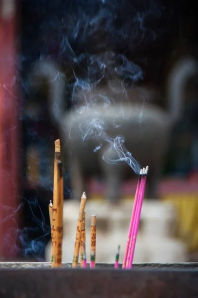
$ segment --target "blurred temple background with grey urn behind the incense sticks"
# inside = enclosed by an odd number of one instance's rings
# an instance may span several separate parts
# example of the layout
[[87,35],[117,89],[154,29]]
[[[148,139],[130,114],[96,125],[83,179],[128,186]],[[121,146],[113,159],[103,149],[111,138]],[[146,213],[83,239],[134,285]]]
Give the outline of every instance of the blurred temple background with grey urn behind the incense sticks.
[[50,260],[60,138],[63,261],[84,190],[88,246],[96,213],[97,261],[122,259],[146,165],[135,261],[198,261],[197,30],[185,0],[0,0],[0,260]]

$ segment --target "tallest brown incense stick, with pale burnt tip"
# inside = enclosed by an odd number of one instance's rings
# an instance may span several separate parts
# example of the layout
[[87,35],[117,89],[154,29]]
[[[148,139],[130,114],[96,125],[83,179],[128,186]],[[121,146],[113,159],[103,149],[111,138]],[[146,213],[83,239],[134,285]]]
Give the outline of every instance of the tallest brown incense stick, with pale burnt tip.
[[[51,229],[51,267],[58,267],[57,263],[57,220],[58,220],[58,197],[60,191],[58,191],[58,161],[60,160],[60,140],[56,140],[55,153],[54,153],[54,174],[53,174],[53,214],[52,214],[52,229]],[[59,212],[60,213],[60,212]]]

